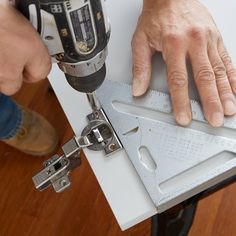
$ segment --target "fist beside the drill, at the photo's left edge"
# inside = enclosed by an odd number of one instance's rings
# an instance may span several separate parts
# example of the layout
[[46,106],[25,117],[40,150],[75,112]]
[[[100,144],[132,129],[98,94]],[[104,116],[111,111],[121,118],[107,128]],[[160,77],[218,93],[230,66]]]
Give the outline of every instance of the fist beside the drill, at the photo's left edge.
[[8,1],[0,3],[0,93],[13,95],[23,81],[45,79],[51,59],[36,30]]

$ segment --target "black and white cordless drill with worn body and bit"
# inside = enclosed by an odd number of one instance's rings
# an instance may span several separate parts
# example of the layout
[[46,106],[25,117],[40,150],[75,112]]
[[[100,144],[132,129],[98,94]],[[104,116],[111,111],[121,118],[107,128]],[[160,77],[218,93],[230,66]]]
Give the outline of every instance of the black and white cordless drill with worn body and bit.
[[68,83],[77,91],[87,93],[92,107],[93,92],[106,75],[110,26],[104,1],[16,1],[17,8],[37,29]]

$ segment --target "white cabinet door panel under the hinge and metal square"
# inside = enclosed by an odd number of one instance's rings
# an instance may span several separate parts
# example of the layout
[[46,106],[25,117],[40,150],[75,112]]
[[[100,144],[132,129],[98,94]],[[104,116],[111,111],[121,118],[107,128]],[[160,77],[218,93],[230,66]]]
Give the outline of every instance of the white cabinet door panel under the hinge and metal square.
[[[107,78],[130,83],[132,79],[130,42],[141,11],[141,0],[107,1],[112,34],[107,60]],[[213,13],[223,34],[228,50],[236,62],[236,2],[204,1]],[[50,81],[62,107],[79,135],[91,112],[86,97],[74,91],[56,65]],[[166,91],[165,66],[157,56],[153,66],[152,88]],[[122,229],[126,229],[155,214],[156,209],[124,151],[105,158],[102,153],[85,151],[89,163]],[[79,214],[79,213],[78,213]]]

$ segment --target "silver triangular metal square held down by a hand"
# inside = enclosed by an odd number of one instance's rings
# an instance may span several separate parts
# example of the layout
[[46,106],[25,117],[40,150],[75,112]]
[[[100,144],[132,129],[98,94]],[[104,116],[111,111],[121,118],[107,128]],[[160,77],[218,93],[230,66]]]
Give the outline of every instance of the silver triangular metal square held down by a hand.
[[236,117],[213,128],[192,100],[184,128],[165,93],[134,98],[130,85],[106,80],[97,96],[158,212],[236,174]]

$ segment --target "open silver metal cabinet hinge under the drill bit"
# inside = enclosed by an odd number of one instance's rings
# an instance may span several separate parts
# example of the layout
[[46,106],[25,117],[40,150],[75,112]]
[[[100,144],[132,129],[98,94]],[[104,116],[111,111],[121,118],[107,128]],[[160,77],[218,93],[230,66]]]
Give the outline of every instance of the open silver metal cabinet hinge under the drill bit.
[[56,192],[62,192],[69,187],[71,182],[68,175],[81,164],[80,152],[83,148],[104,150],[106,155],[122,149],[102,109],[93,112],[87,118],[89,123],[81,137],[74,137],[64,144],[63,155],[54,155],[45,161],[44,169],[32,178],[38,190],[42,191],[52,185]]

